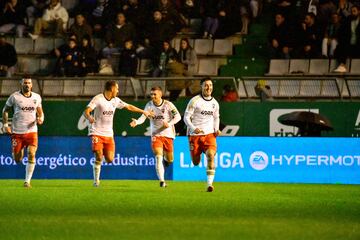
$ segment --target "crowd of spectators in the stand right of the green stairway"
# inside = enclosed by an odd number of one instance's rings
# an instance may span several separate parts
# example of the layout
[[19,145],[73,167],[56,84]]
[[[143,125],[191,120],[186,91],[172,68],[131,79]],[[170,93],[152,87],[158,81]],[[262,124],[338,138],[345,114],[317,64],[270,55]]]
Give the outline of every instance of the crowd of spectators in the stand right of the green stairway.
[[269,33],[271,58],[360,58],[359,0],[278,0]]

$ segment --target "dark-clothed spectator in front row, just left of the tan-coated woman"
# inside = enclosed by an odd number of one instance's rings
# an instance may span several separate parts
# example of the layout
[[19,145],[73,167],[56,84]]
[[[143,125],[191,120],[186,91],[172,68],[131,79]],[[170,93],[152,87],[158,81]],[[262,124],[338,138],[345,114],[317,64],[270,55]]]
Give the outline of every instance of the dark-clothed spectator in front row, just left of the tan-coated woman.
[[169,62],[169,59],[177,58],[177,52],[170,44],[170,41],[165,40],[163,42],[163,47],[160,53],[160,56],[157,56],[154,59],[154,71],[152,72],[153,77],[167,77],[166,65]]

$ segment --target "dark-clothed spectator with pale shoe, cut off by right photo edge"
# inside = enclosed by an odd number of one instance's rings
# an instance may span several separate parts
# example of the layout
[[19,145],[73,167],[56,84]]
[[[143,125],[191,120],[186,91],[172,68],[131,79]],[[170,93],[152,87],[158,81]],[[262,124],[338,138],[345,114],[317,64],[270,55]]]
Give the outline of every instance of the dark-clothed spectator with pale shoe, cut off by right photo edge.
[[346,59],[360,58],[360,10],[359,7],[351,8],[351,15],[346,18],[339,30],[339,43],[335,50],[335,57],[338,59],[339,66],[334,72],[344,73],[346,69]]

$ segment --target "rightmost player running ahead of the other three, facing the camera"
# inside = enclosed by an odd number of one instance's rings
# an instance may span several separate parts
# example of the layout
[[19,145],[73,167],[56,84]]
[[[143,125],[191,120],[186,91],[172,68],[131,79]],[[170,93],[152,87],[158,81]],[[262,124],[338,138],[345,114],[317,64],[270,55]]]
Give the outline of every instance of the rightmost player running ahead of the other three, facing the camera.
[[211,95],[213,91],[211,78],[202,79],[200,84],[201,94],[193,97],[188,103],[184,121],[187,125],[193,164],[199,165],[201,154],[206,154],[207,191],[212,192],[214,191],[216,137],[221,133],[219,130],[219,103]]

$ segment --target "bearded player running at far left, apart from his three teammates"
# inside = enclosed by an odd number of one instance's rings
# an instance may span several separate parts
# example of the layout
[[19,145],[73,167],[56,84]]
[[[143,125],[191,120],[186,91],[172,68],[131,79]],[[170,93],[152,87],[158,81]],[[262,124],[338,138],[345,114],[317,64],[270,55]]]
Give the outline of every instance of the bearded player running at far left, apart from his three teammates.
[[[11,126],[8,123],[9,111],[13,110]],[[19,164],[27,147],[28,163],[25,171],[24,187],[31,188],[31,178],[35,169],[35,154],[38,147],[38,127],[44,122],[44,112],[39,94],[32,92],[30,76],[21,80],[21,90],[7,99],[2,111],[4,132],[11,134],[13,159]]]

